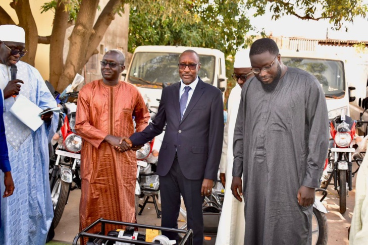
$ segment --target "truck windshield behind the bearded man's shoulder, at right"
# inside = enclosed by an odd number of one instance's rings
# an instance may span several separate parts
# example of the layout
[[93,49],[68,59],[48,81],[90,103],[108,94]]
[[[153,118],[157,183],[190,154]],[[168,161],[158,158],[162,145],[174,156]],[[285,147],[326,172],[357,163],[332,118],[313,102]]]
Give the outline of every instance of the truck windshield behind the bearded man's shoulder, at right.
[[344,65],[341,61],[328,59],[282,57],[288,67],[304,70],[318,79],[326,98],[339,99],[345,94]]

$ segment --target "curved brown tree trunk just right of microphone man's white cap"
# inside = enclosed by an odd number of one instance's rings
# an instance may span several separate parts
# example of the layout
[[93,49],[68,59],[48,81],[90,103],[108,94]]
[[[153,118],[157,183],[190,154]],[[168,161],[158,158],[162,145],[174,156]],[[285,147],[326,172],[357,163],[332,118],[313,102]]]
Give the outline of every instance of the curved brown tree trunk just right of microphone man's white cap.
[[18,16],[19,25],[26,32],[26,49],[27,55],[22,57],[22,61],[34,66],[34,58],[36,57],[38,31],[36,22],[34,21],[29,0],[13,0],[10,6],[15,10]]

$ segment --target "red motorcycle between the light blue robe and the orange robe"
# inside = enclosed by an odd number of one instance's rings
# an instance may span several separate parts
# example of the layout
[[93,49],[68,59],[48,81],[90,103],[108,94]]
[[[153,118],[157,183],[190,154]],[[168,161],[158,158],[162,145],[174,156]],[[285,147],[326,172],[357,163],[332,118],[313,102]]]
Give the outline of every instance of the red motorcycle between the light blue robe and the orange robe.
[[[65,103],[63,105],[63,110],[68,111],[68,113],[66,116],[61,113],[60,118],[63,120],[63,125],[58,132],[61,137],[54,145],[54,154],[50,155],[52,160],[50,160],[49,180],[52,206],[54,207],[54,228],[59,224],[70,191],[81,188],[79,152],[82,147],[82,138],[74,132],[75,111],[71,111],[71,108],[75,110],[75,104]],[[72,182],[75,183],[74,186],[72,186]]]

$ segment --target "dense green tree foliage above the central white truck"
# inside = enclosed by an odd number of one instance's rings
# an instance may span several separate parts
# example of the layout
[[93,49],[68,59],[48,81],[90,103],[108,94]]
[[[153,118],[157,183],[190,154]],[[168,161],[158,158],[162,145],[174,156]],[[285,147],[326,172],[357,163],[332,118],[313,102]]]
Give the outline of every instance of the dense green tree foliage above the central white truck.
[[245,34],[251,27],[243,1],[169,2],[133,3],[130,52],[140,45],[180,45],[216,48],[229,55],[244,47]]

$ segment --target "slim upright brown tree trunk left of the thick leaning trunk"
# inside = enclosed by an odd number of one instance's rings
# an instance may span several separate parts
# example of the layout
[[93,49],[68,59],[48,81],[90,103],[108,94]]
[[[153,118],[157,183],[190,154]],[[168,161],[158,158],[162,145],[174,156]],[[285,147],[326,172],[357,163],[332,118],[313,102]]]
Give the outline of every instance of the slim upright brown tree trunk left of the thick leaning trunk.
[[[66,5],[70,0],[58,0],[54,17],[54,25],[50,37],[50,74],[49,80],[54,88],[58,87],[59,78],[63,72],[64,60],[64,40],[66,30],[69,26],[69,11],[66,11]],[[60,91],[62,92],[62,91]]]

